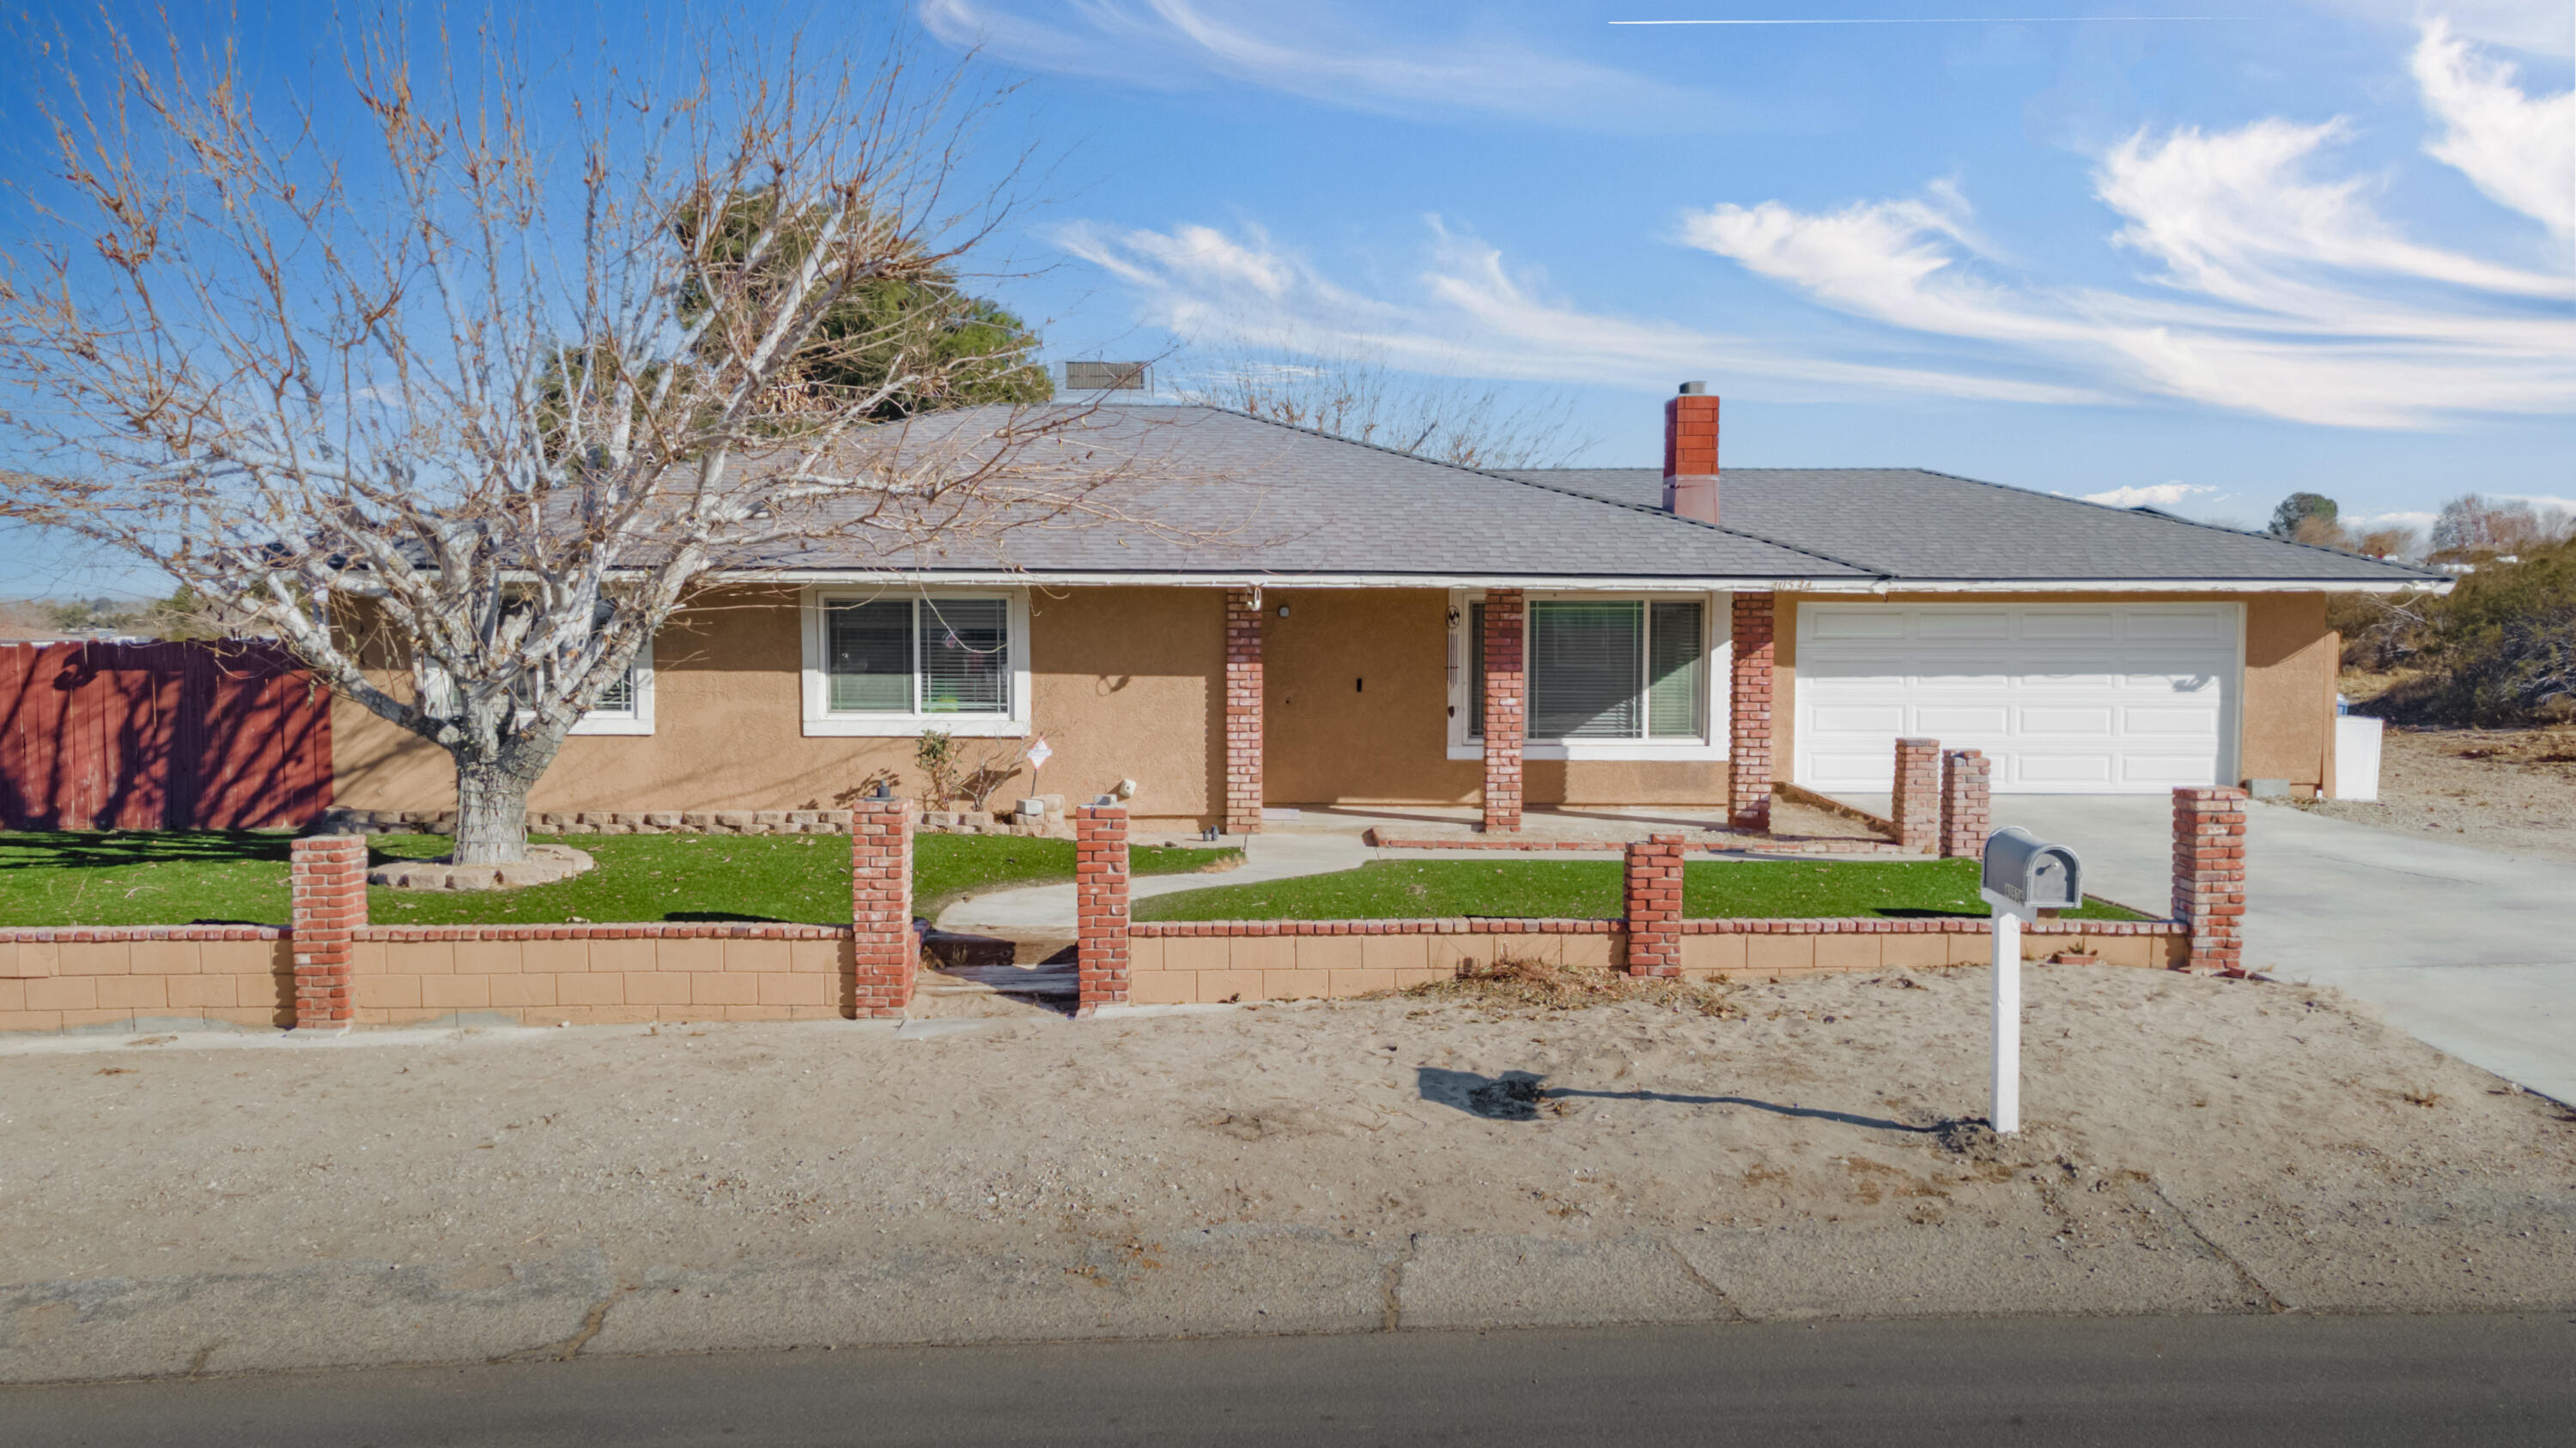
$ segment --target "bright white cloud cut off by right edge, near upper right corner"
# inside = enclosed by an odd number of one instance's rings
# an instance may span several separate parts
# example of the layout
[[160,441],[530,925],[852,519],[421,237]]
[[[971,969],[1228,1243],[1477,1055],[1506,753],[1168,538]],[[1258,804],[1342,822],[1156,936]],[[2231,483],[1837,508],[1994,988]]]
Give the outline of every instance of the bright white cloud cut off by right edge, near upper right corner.
[[2527,95],[2512,64],[2478,57],[2445,21],[2424,28],[2414,75],[2445,126],[2424,147],[2434,160],[2496,204],[2576,234],[2576,90]]

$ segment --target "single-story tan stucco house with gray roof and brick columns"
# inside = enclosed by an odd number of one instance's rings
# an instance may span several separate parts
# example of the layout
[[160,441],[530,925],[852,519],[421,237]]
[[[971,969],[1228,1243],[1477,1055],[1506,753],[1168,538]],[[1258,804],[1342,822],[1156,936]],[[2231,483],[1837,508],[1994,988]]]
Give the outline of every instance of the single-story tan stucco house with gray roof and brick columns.
[[[951,415],[956,417],[956,415]],[[2326,595],[2437,575],[1922,469],[1479,472],[1216,407],[1105,405],[1115,515],[945,551],[742,559],[567,739],[533,806],[811,809],[925,729],[1133,781],[1144,827],[1262,806],[1708,806],[1883,791],[1891,739],[1999,794],[2331,791]],[[348,809],[443,809],[446,755],[343,703]],[[989,742],[989,745],[987,745]],[[1033,794],[1015,781],[1005,796]]]

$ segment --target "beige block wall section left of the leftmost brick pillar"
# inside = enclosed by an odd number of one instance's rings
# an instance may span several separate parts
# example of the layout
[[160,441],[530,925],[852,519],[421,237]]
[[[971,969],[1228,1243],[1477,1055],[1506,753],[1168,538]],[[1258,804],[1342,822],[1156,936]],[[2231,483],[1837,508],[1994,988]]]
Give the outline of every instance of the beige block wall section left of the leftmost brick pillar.
[[0,943],[0,1031],[294,1025],[289,940]]

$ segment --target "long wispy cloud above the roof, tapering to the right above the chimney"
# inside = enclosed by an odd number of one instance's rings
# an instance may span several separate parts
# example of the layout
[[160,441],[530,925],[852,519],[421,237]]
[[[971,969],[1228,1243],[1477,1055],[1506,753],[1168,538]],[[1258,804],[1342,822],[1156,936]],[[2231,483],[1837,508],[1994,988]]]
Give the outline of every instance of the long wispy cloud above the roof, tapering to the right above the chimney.
[[1128,286],[1141,319],[1190,340],[1370,356],[1406,371],[1504,381],[1672,386],[1680,376],[1767,381],[1775,394],[1924,392],[2009,402],[2102,402],[2099,392],[1940,368],[1798,358],[1780,340],[1592,312],[1546,278],[1430,219],[1399,299],[1355,291],[1247,227],[1072,224],[1056,242]]

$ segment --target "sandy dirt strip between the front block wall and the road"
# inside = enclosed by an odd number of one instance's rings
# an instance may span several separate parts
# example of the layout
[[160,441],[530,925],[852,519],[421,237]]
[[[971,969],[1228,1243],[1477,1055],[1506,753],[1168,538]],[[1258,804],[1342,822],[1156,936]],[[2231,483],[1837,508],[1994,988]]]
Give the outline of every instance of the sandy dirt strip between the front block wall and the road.
[[[0,1056],[0,1376],[2576,1306],[2576,1116],[2334,992],[1986,971]],[[917,1028],[920,1031],[920,1028]]]

